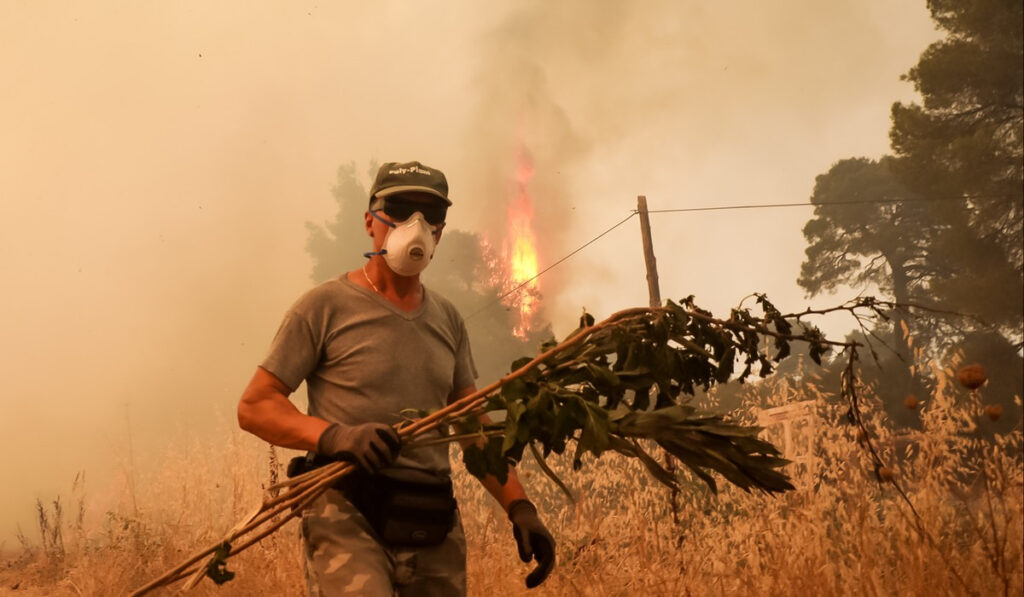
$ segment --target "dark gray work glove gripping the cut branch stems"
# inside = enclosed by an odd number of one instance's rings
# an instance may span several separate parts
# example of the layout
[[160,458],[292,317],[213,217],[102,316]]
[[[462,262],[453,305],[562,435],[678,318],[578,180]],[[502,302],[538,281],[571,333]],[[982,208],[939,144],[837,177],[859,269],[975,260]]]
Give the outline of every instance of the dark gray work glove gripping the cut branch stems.
[[370,473],[394,462],[400,447],[398,432],[383,423],[332,423],[316,441],[316,454],[353,462]]

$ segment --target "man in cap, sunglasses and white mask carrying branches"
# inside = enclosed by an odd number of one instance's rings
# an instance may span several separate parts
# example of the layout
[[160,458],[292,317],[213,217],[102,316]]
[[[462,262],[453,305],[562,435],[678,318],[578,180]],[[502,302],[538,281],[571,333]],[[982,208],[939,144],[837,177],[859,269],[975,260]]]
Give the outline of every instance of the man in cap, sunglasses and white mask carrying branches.
[[[365,227],[369,261],[308,291],[285,314],[239,401],[239,424],[305,468],[359,466],[302,513],[310,595],[465,595],[466,543],[452,495],[446,443],[401,450],[407,410],[444,407],[476,391],[466,327],[420,283],[452,201],[444,174],[419,162],[381,166]],[[289,400],[303,382],[308,415]],[[482,484],[513,523],[526,580],[554,566],[554,540],[514,470]]]

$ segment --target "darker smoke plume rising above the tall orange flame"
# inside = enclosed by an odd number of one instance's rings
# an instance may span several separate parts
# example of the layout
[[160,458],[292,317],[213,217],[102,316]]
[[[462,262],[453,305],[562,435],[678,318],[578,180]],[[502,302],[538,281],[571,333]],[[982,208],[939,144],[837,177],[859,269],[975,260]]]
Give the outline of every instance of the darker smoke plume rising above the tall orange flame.
[[[465,181],[471,197],[467,209],[500,246],[506,222],[495,215],[506,209],[519,155],[525,155],[535,168],[529,194],[542,267],[569,250],[565,232],[579,223],[577,168],[593,144],[622,122],[601,114],[602,92],[592,88],[592,71],[621,50],[625,10],[617,5],[594,9],[588,2],[530,2],[481,39],[473,78],[478,97],[465,141],[467,162],[475,165]],[[546,274],[543,294],[557,296],[565,280],[557,271]]]

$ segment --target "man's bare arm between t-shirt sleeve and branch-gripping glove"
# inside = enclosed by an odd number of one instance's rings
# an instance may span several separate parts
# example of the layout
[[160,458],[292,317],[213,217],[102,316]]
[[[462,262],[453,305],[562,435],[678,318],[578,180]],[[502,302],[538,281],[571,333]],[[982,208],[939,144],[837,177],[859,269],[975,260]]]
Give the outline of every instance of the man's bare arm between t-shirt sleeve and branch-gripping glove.
[[315,452],[329,423],[303,415],[288,399],[285,382],[261,367],[239,400],[239,426],[274,445]]

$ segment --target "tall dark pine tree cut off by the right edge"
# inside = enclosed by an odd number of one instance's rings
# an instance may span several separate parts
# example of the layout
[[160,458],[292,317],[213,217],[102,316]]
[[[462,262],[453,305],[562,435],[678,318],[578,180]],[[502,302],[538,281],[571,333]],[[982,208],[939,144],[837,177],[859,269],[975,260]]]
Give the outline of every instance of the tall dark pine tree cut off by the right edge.
[[[1021,333],[1024,301],[1024,19],[1020,0],[929,0],[948,35],[905,76],[923,103],[892,109],[894,171],[947,202],[931,249],[952,275],[933,292]],[[1019,338],[1018,338],[1019,341]]]

